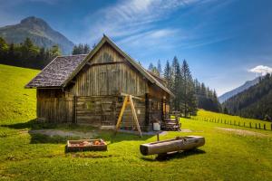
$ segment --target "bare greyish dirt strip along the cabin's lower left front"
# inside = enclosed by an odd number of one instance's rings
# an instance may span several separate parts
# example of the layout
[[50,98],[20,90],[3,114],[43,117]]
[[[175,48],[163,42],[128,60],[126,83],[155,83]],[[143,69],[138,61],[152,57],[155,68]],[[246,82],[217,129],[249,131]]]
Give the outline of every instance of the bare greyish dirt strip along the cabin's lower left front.
[[29,130],[28,132],[30,134],[42,134],[50,137],[60,136],[60,137],[95,138],[97,136],[95,132],[63,131],[57,129]]

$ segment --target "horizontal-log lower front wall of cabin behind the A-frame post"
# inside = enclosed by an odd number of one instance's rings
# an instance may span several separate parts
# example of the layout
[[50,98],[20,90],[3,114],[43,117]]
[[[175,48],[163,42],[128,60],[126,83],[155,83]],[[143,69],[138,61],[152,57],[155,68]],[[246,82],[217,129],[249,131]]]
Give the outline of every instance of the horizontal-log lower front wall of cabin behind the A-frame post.
[[[92,124],[92,126],[114,126],[121,111],[123,97],[119,96],[80,96],[76,103],[76,122]],[[133,100],[139,124],[144,127],[145,104],[141,100]],[[121,127],[134,126],[130,105],[127,105],[121,121]]]

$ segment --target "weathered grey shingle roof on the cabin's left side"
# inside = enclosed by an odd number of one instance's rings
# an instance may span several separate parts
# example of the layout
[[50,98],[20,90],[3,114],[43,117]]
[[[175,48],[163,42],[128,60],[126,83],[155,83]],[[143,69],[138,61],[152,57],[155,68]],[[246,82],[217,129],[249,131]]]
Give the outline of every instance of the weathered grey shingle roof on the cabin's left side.
[[57,56],[25,88],[62,87],[86,54]]

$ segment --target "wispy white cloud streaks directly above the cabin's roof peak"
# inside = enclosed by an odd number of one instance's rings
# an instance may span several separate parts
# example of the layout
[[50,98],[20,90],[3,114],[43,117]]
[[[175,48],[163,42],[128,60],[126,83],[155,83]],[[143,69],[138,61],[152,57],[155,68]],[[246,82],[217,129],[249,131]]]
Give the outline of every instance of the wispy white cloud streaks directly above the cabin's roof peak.
[[83,35],[83,41],[88,37],[89,42],[97,42],[102,33],[110,37],[131,39],[131,37],[151,35],[153,40],[160,40],[162,36],[177,33],[170,27],[158,28],[156,22],[169,17],[180,7],[191,5],[199,0],[131,0],[118,1],[116,5],[103,8],[95,14],[89,14],[85,18],[88,24],[88,34]]

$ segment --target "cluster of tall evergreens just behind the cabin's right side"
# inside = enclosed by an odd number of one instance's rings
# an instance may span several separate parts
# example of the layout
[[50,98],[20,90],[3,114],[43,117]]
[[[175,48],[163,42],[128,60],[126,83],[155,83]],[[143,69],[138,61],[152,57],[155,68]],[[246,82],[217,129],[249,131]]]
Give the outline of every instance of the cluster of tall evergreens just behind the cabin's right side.
[[186,60],[181,63],[175,56],[162,71],[160,60],[156,65],[149,65],[149,71],[164,78],[166,87],[173,92],[170,100],[171,110],[179,110],[184,117],[195,115],[197,109],[221,111],[215,90],[209,89],[204,83],[193,80]]

